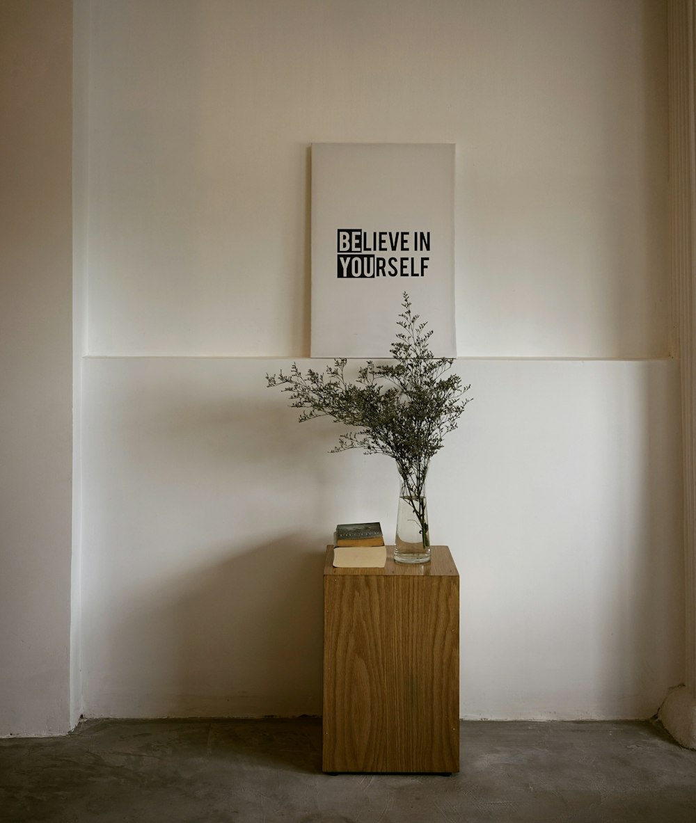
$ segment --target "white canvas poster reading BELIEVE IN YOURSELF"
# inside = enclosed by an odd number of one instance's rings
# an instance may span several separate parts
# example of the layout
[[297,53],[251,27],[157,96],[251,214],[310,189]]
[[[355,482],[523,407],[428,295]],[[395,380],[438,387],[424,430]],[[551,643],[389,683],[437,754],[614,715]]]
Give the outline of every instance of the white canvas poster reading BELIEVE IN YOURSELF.
[[455,146],[311,148],[311,356],[389,357],[404,291],[455,357]]

